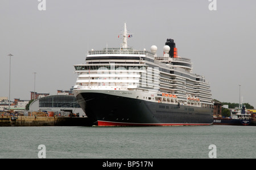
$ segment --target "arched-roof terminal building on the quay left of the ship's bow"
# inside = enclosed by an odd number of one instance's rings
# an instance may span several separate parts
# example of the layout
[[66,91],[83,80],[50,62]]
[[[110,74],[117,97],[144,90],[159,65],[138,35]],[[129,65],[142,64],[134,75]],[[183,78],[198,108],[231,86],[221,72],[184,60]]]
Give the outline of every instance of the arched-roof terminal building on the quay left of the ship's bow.
[[30,104],[30,111],[53,111],[55,115],[68,116],[70,113],[84,117],[85,113],[79,106],[75,96],[60,92],[35,99]]

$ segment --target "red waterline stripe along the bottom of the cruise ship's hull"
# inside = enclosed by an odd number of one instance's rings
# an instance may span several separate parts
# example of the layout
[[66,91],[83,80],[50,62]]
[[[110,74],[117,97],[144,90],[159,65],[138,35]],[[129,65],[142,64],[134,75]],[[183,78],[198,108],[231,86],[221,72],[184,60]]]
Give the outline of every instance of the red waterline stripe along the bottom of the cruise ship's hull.
[[212,123],[121,123],[98,121],[98,126],[204,126]]

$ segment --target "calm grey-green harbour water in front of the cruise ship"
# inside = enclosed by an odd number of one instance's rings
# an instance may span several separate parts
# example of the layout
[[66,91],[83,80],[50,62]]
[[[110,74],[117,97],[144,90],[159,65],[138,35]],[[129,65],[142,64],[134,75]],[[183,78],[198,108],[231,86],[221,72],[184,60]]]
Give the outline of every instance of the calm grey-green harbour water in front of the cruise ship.
[[256,158],[256,126],[0,127],[0,158]]

